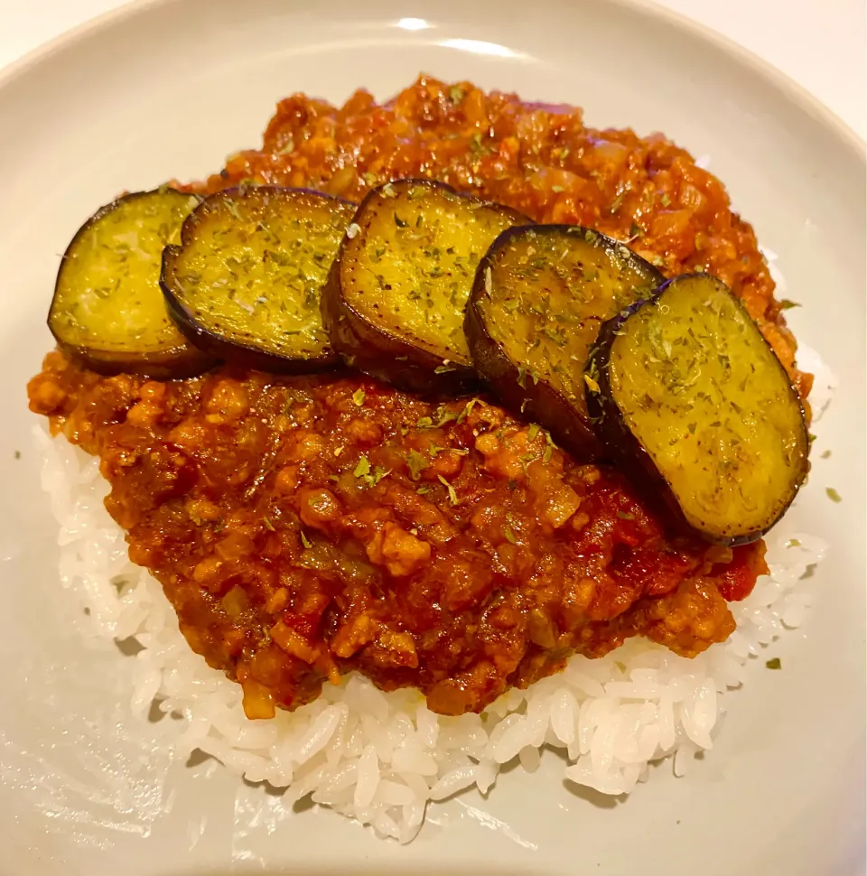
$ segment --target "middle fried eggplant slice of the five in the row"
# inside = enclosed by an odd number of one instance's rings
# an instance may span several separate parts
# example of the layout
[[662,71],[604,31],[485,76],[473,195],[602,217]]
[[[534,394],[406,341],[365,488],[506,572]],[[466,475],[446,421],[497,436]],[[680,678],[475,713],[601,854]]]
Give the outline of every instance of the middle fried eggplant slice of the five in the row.
[[478,383],[463,312],[480,259],[522,213],[429,180],[370,191],[340,245],[322,310],[356,368],[428,395]]

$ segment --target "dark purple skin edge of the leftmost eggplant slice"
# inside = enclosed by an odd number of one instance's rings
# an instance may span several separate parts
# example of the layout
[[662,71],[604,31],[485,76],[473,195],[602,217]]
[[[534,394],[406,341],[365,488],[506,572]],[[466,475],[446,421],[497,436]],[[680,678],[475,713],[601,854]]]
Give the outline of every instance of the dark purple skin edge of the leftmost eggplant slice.
[[[149,189],[148,191],[129,191],[124,195],[120,195],[115,200],[103,204],[75,232],[66,249],[63,250],[61,264],[57,269],[57,276],[54,278],[54,292],[51,295],[51,305],[48,308],[48,316],[45,322],[48,325],[48,331],[51,331],[51,336],[54,338],[57,348],[72,359],[77,359],[85,367],[90,368],[91,371],[96,371],[97,374],[103,374],[107,377],[116,374],[135,374],[140,377],[154,377],[157,380],[180,379],[182,377],[195,377],[217,364],[212,357],[195,346],[168,349],[159,353],[142,353],[138,356],[131,356],[115,350],[94,350],[62,340],[55,334],[51,326],[51,314],[54,312],[54,303],[57,300],[57,291],[61,282],[63,267],[72,249],[78,245],[81,236],[89,231],[99,219],[102,219],[113,210],[117,210],[120,204],[126,203],[129,200],[138,200],[148,195],[161,194],[164,191],[177,191],[178,194],[182,195],[188,194],[188,192],[179,191],[171,186],[158,186],[156,189]],[[201,201],[200,195],[190,192],[189,196],[191,198],[198,198]]]

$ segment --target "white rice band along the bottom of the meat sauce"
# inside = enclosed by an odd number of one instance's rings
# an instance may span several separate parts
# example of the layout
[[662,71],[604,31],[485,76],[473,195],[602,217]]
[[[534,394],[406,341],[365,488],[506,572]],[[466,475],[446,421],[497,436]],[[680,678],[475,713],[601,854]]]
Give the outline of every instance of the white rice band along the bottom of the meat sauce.
[[535,770],[545,747],[563,750],[564,778],[623,795],[670,758],[677,776],[713,747],[727,692],[747,676],[750,657],[797,627],[809,594],[797,586],[826,545],[815,536],[776,536],[770,574],[732,604],[737,629],[694,659],[633,638],[607,657],[572,657],[564,671],[513,689],[486,712],[432,713],[415,690],[383,693],[358,674],[325,685],[294,713],[250,722],[241,688],[193,653],[159,582],[129,562],[124,531],[103,504],[98,460],[44,426],[42,489],[60,524],[61,582],[79,592],[95,635],[135,638],[131,708],[142,719],[154,701],[180,716],[178,756],[199,749],[249,781],[286,787],[292,803],[312,801],[408,843],[429,803],[476,787],[487,794],[517,759]]

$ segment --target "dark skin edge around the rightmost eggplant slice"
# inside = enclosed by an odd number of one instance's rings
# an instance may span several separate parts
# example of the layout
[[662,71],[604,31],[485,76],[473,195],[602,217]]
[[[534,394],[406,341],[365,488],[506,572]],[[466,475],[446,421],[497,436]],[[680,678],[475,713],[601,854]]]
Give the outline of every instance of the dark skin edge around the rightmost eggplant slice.
[[[806,461],[805,470],[801,479],[795,485],[792,495],[786,505],[780,509],[777,517],[769,523],[767,527],[761,527],[752,532],[745,533],[742,536],[733,538],[714,538],[700,530],[695,529],[686,519],[684,512],[680,508],[674,492],[668,485],[668,481],[657,469],[656,464],[650,457],[650,454],[644,449],[638,438],[631,432],[629,426],[623,419],[620,411],[620,406],[614,400],[611,393],[611,347],[614,340],[618,337],[618,332],[633,313],[639,311],[645,304],[656,301],[667,288],[676,280],[683,279],[685,276],[695,276],[719,280],[706,272],[700,272],[693,275],[677,275],[667,279],[661,284],[653,294],[648,298],[643,298],[640,301],[632,303],[629,307],[624,308],[616,316],[602,324],[596,342],[593,344],[590,356],[587,359],[587,364],[584,368],[584,374],[590,377],[590,382],[584,381],[584,398],[587,401],[587,410],[590,413],[593,429],[599,437],[600,442],[610,454],[611,459],[616,463],[620,471],[627,477],[629,482],[639,490],[641,495],[660,512],[667,522],[675,527],[680,532],[688,536],[698,536],[704,541],[713,545],[722,545],[723,547],[737,547],[738,545],[749,545],[751,542],[758,541],[761,536],[764,536],[769,530],[774,527],[778,520],[788,511],[792,502],[795,500],[797,493],[806,480],[807,472],[809,471],[809,460]],[[732,295],[738,306],[746,313],[746,308],[736,296]],[[749,313],[747,313],[749,316]],[[750,317],[751,319],[751,317]],[[759,332],[761,334],[761,332]],[[801,404],[800,396],[797,394],[795,387],[792,387],[791,381],[788,379],[786,369],[774,353],[764,335],[761,335],[762,340],[768,344],[768,348],[773,353],[775,361],[786,377],[788,387],[791,390],[793,399],[801,411],[801,416],[804,416],[804,405]],[[597,392],[592,385],[599,387]],[[806,419],[805,419],[806,423]]]

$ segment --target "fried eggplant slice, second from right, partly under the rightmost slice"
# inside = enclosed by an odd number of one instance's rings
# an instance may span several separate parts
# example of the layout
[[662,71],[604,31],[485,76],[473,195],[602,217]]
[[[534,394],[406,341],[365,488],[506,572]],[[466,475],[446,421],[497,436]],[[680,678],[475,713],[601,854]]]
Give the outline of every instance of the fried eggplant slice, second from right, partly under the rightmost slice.
[[472,361],[504,404],[579,461],[604,458],[584,401],[602,322],[663,276],[628,247],[576,225],[504,231],[482,259],[466,312]]

